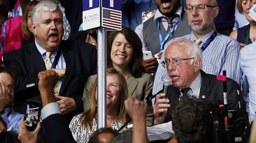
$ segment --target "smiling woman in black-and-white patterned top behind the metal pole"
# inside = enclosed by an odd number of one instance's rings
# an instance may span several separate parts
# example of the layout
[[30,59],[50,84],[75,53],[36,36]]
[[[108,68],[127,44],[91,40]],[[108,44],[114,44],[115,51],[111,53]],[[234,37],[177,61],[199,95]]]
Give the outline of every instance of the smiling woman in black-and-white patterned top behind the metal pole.
[[[76,142],[87,142],[97,129],[97,80],[90,90],[90,108],[76,115],[69,128]],[[122,73],[115,69],[107,70],[107,127],[119,129],[127,120],[124,100],[128,97],[128,89]],[[123,132],[126,129],[122,129]]]

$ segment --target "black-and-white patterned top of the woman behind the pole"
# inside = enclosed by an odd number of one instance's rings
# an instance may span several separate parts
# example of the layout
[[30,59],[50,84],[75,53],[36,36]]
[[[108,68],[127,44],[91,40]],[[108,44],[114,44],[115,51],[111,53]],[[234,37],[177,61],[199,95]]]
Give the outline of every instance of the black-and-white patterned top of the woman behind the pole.
[[[86,128],[85,126],[82,126],[80,122],[80,117],[82,114],[78,114],[71,120],[69,124],[69,129],[71,130],[73,138],[76,140],[77,143],[87,143],[89,140],[89,137],[92,133],[94,133],[97,130],[97,121],[96,119],[93,119],[92,121],[92,129]],[[121,128],[123,123],[118,122],[117,120],[114,121],[111,126],[113,129],[118,130]],[[127,130],[126,128],[123,128],[121,132]]]

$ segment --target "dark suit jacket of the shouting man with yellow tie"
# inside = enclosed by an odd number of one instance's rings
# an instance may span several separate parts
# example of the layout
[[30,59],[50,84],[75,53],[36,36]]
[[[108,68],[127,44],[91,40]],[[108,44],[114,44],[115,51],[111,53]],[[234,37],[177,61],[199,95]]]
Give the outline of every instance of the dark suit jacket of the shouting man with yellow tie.
[[[83,112],[82,95],[90,75],[97,73],[97,50],[95,46],[78,41],[63,40],[60,49],[66,63],[66,72],[59,95],[71,97],[76,102],[76,113]],[[19,50],[8,52],[3,57],[5,67],[16,74],[14,109],[25,113],[26,100],[41,102],[38,90],[38,73],[45,71],[45,63],[37,50],[35,41],[22,46]],[[68,114],[72,119],[75,112]]]

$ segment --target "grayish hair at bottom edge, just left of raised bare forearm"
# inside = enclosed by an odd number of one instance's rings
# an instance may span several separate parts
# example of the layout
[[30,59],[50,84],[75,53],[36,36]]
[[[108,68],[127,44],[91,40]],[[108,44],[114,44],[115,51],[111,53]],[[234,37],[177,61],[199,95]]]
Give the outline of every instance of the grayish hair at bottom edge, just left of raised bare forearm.
[[133,142],[133,131],[132,130],[126,130],[122,132],[121,134],[117,135],[112,143],[131,143]]

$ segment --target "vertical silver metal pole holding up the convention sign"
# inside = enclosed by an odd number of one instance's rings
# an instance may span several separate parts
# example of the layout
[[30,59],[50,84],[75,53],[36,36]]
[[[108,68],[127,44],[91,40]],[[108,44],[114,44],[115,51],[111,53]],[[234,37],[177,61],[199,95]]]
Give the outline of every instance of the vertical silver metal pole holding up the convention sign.
[[107,126],[107,30],[106,28],[97,29],[97,129]]

